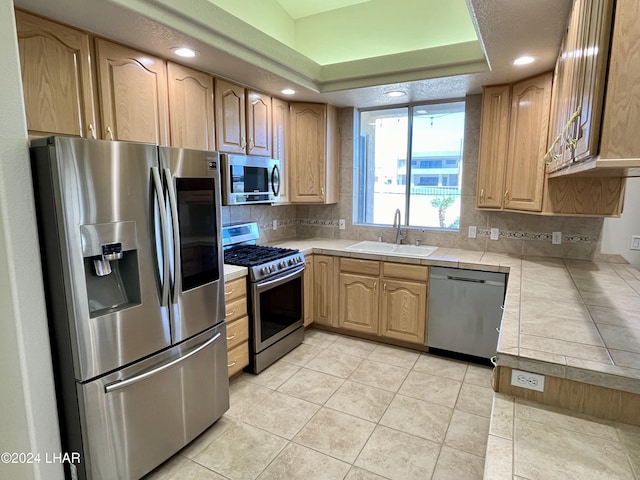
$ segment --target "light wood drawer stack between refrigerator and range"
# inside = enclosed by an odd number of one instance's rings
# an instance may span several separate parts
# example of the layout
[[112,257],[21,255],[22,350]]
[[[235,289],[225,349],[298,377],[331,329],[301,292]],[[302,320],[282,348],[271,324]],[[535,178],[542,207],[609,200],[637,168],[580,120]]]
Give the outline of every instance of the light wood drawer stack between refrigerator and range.
[[229,377],[249,365],[249,317],[247,280],[225,282],[225,321],[227,322],[227,367]]

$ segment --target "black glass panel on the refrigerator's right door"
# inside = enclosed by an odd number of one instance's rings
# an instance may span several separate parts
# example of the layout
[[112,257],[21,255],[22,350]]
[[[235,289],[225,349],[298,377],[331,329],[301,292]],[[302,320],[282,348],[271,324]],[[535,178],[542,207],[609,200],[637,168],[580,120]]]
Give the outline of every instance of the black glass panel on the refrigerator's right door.
[[213,178],[176,178],[182,291],[220,278]]

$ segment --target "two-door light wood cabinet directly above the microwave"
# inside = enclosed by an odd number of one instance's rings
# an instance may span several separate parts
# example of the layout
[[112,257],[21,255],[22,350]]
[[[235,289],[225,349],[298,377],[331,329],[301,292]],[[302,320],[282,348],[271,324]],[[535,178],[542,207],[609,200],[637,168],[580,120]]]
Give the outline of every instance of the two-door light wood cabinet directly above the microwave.
[[271,97],[216,78],[216,149],[271,156]]

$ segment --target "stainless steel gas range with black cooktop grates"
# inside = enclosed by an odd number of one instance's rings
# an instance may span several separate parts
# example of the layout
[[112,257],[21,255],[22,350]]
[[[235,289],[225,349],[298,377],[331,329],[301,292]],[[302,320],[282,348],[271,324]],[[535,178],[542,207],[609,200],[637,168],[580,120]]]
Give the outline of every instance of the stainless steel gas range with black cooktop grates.
[[249,269],[249,369],[259,373],[304,338],[304,255],[256,245],[255,222],[222,227],[224,263]]

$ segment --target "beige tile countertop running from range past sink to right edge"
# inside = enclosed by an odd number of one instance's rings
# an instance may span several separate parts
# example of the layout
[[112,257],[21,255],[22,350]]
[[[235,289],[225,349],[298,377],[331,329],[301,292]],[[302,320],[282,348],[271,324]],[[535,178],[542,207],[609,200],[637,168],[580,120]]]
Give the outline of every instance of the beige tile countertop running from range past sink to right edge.
[[640,394],[640,271],[628,264],[439,248],[427,258],[291,239],[305,254],[508,272],[497,364]]

